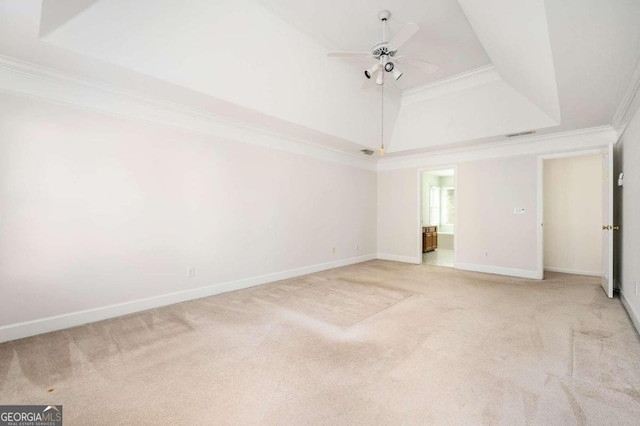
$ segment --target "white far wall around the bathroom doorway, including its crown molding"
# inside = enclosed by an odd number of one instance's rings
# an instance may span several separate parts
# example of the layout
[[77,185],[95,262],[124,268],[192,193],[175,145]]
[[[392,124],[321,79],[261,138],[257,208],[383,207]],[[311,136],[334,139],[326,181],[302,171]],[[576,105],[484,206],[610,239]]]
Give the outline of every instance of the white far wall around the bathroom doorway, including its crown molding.
[[[378,164],[378,252],[420,261],[418,171],[457,164],[456,268],[538,278],[538,157],[600,150],[615,139],[616,132],[608,127],[383,159]],[[514,215],[516,207],[527,213]]]

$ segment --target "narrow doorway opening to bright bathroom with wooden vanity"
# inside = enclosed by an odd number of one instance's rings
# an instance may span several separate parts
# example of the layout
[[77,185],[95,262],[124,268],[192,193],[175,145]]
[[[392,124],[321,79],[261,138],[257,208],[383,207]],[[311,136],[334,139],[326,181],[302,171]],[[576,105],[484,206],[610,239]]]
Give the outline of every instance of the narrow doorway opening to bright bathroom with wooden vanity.
[[420,176],[422,263],[455,266],[455,168],[425,170]]

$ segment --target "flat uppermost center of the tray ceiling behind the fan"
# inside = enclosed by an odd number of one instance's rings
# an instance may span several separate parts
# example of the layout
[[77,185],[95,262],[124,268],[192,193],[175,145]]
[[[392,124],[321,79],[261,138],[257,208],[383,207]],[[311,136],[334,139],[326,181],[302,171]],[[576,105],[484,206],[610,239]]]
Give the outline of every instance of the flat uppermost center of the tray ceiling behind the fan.
[[395,83],[400,89],[411,89],[491,63],[456,0],[258,1],[327,50],[370,52],[382,40],[377,18],[381,10],[391,12],[387,39],[407,22],[418,24],[420,30],[398,54],[437,64],[439,69],[426,74],[410,65],[402,66],[404,75]]

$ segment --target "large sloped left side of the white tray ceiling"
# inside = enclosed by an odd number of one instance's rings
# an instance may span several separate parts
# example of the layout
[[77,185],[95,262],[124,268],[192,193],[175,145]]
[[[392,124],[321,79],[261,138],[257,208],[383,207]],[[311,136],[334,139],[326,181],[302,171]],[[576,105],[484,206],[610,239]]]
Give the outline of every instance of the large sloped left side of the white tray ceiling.
[[100,0],[43,40],[363,147],[378,139],[363,77],[252,0]]

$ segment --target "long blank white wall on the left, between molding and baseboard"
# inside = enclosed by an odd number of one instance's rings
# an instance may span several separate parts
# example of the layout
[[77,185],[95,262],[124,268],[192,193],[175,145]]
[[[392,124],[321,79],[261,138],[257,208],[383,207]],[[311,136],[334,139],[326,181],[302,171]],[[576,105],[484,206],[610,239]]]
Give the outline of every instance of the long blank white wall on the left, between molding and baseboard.
[[375,171],[8,94],[0,206],[0,340],[376,252]]

